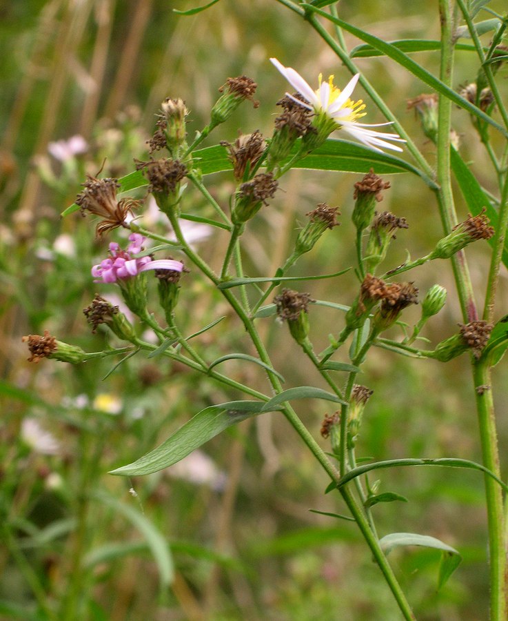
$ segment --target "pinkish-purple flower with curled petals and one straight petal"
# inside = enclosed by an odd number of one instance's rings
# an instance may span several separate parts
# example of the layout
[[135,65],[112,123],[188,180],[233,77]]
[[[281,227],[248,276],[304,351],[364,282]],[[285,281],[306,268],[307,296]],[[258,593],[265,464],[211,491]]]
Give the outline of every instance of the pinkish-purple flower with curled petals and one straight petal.
[[145,237],[139,233],[129,235],[130,244],[127,250],[122,250],[119,244],[110,244],[110,257],[92,267],[94,282],[116,282],[119,279],[128,279],[137,276],[146,270],[172,270],[181,272],[183,263],[173,259],[157,259],[152,257],[132,257],[143,250]]

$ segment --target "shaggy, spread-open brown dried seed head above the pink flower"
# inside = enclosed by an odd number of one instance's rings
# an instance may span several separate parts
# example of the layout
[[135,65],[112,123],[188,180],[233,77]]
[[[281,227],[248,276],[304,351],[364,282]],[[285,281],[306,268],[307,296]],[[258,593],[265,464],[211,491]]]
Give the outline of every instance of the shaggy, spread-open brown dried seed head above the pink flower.
[[85,188],[76,197],[76,204],[81,208],[81,214],[85,212],[97,215],[103,220],[97,224],[95,233],[101,237],[108,230],[123,226],[125,217],[139,207],[141,201],[134,199],[116,200],[116,190],[120,187],[117,179],[97,179],[88,176],[83,184]]

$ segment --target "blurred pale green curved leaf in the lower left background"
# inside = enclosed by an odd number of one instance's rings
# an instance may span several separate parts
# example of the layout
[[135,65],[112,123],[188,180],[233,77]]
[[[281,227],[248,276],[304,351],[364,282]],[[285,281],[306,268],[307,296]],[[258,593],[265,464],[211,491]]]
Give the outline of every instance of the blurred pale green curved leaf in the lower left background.
[[131,524],[143,535],[145,541],[152,552],[157,568],[159,569],[159,580],[161,586],[168,586],[173,582],[173,561],[170,550],[167,546],[166,538],[156,529],[154,524],[143,513],[136,511],[132,506],[120,502],[116,498],[97,492],[93,497],[104,504],[109,504],[116,512],[126,517]]

